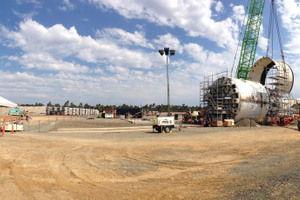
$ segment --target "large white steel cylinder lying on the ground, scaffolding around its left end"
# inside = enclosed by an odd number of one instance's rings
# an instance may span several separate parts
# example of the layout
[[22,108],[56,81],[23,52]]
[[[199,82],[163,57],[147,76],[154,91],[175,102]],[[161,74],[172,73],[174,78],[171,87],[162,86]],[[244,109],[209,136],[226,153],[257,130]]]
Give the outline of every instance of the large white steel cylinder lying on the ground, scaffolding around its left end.
[[270,106],[266,88],[257,82],[221,77],[214,81],[204,95],[212,121],[258,119],[268,113]]

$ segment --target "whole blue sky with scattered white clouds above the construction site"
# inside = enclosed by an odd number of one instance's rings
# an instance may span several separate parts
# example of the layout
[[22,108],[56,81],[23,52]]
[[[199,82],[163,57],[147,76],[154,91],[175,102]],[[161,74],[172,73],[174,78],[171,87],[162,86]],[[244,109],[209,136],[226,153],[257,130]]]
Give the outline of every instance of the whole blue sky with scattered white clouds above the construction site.
[[[15,103],[199,105],[204,75],[230,70],[248,0],[10,0],[0,7],[0,96]],[[300,97],[300,5],[278,0]],[[266,0],[257,59],[265,56]],[[278,46],[278,45],[277,45]],[[276,47],[276,46],[275,46]],[[274,58],[279,49],[275,49]],[[278,54],[279,55],[279,54]]]

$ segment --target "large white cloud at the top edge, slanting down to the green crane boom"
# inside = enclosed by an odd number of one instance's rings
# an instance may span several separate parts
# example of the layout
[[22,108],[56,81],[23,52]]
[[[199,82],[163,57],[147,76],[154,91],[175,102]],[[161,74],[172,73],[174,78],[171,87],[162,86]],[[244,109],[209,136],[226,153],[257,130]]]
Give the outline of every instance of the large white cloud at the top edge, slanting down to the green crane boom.
[[[235,46],[235,32],[238,31],[238,21],[242,8],[233,6],[233,16],[222,21],[212,19],[214,0],[174,0],[169,3],[160,0],[86,0],[103,9],[114,9],[126,18],[147,19],[150,22],[170,27],[178,26],[190,36],[201,36],[217,43],[220,47]],[[218,8],[221,8],[221,4]],[[237,12],[236,10],[239,10]]]

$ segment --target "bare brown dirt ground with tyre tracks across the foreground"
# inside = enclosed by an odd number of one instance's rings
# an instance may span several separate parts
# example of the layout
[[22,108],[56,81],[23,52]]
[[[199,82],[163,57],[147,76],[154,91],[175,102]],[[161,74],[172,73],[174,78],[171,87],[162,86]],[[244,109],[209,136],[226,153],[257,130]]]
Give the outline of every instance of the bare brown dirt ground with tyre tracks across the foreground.
[[24,128],[0,137],[0,199],[300,198],[296,127],[159,134],[150,123],[41,117]]

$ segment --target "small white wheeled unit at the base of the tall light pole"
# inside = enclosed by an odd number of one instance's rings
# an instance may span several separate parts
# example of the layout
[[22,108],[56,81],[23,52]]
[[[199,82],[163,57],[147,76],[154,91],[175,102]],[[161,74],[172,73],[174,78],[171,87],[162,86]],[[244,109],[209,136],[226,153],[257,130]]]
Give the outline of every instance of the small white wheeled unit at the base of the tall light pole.
[[158,116],[153,120],[153,132],[155,129],[159,133],[172,133],[174,127],[174,117]]

